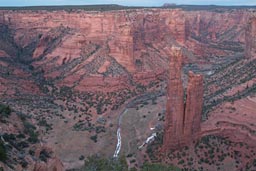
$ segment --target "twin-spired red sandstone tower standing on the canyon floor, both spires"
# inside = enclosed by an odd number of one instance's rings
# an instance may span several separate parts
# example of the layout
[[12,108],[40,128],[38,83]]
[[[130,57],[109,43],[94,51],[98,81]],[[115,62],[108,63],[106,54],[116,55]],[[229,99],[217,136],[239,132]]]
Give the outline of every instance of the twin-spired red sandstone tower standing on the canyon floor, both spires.
[[181,80],[182,52],[172,48],[167,86],[167,104],[163,151],[178,148],[195,140],[200,133],[203,105],[203,77],[189,72],[186,102]]

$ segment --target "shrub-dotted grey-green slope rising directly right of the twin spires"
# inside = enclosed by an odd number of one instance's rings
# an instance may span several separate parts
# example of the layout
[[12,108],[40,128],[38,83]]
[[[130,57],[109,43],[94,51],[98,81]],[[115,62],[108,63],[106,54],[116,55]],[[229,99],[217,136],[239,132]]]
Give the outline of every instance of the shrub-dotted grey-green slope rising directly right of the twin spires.
[[256,92],[256,84],[248,85],[236,94],[223,95],[235,86],[255,78],[256,60],[237,59],[223,65],[214,74],[206,77],[204,89],[203,120],[210,111],[224,102],[234,102]]

